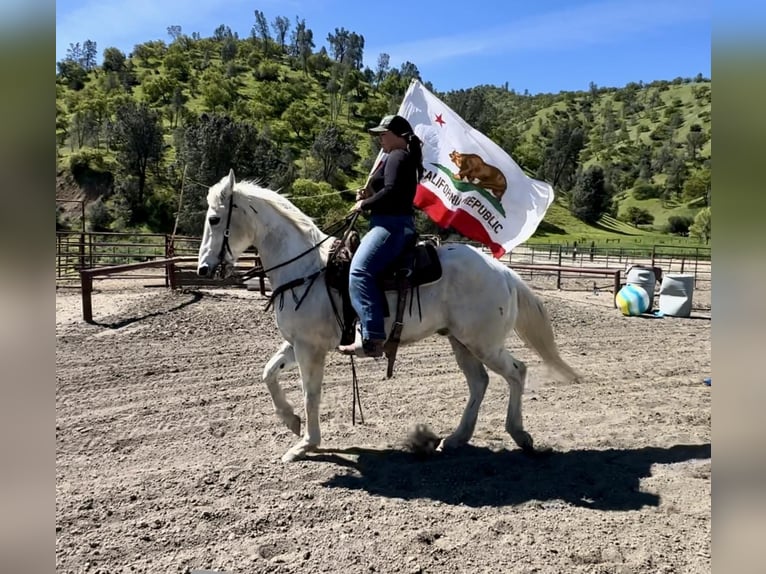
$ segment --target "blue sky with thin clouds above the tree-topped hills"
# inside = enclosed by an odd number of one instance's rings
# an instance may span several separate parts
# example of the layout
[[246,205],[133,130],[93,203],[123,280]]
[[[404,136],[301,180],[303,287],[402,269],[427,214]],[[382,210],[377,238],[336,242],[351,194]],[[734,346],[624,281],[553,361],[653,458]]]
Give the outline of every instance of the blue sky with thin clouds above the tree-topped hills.
[[[586,90],[631,81],[710,77],[712,0],[59,0],[56,60],[93,40],[129,53],[167,28],[211,36],[220,24],[247,37],[254,10],[295,16],[317,49],[335,28],[365,38],[365,63],[385,52],[413,62],[438,91],[508,82],[518,92]],[[192,7],[193,6],[193,7]]]

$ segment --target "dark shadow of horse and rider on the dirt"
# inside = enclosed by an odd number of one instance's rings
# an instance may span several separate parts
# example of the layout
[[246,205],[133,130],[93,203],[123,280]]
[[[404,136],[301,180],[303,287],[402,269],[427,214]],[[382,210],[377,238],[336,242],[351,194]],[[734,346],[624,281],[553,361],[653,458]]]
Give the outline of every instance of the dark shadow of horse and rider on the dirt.
[[311,459],[356,471],[338,473],[323,486],[388,498],[427,498],[470,507],[561,500],[597,510],[638,510],[660,502],[658,495],[639,489],[653,464],[709,459],[710,453],[709,443],[533,456],[468,445],[431,457],[394,449],[321,449]]

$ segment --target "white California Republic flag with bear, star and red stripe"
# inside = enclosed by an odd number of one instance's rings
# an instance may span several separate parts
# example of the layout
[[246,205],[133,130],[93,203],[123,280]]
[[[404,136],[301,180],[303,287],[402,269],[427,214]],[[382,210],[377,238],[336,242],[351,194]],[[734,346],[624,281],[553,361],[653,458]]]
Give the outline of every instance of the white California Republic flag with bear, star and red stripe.
[[537,229],[553,188],[528,177],[503,149],[413,80],[399,107],[423,141],[415,205],[500,257]]

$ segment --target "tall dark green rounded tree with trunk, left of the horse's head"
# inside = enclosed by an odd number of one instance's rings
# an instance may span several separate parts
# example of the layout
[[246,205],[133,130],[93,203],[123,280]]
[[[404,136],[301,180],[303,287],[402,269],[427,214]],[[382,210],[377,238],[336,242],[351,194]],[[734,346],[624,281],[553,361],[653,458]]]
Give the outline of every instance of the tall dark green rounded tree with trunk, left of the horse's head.
[[159,166],[164,153],[159,115],[146,104],[125,101],[115,113],[110,140],[122,169],[137,180],[131,206],[135,213],[134,222],[140,221],[145,215],[149,169]]

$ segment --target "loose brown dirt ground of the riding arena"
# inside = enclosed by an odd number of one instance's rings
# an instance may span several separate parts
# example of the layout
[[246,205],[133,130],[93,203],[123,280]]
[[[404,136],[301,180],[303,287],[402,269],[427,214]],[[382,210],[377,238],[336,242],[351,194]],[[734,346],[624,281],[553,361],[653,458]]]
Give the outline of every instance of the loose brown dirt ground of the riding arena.
[[[296,437],[261,370],[281,338],[243,289],[171,292],[104,281],[97,324],[56,293],[56,571],[236,573],[707,573],[711,536],[710,291],[691,318],[629,318],[608,292],[533,282],[562,355],[532,352],[521,453],[491,375],[470,446],[423,459],[425,423],[457,424],[467,388],[446,339],[400,350],[395,376],[330,356],[323,450],[283,464]],[[297,373],[283,379],[301,408]],[[357,415],[358,416],[358,415]]]

